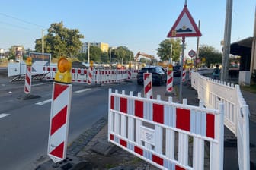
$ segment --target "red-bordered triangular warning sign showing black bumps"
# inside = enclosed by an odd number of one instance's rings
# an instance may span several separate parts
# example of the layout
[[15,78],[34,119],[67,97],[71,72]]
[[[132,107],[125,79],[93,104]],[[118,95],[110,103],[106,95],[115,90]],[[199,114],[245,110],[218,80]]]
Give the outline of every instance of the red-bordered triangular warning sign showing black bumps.
[[194,22],[193,17],[187,9],[187,5],[184,6],[181,14],[171,27],[167,37],[185,37],[185,36],[202,36],[197,24]]

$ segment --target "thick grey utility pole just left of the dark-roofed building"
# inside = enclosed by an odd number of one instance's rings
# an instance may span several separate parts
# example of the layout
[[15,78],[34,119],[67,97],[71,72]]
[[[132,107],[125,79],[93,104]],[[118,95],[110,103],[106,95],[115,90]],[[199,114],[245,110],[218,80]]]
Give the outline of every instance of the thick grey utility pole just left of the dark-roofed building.
[[224,32],[224,46],[222,54],[221,80],[229,80],[229,54],[230,54],[230,36],[232,26],[232,0],[226,0],[226,20]]

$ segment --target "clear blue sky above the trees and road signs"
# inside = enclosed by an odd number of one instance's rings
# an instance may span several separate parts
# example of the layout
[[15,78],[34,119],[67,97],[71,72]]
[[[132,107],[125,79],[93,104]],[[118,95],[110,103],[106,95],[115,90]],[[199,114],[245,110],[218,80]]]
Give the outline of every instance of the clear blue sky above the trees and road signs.
[[[157,56],[159,43],[184,8],[184,0],[3,0],[0,11],[0,48],[22,45],[34,49],[42,29],[63,21],[78,29],[82,42],[106,42]],[[233,0],[231,42],[253,36],[255,0]],[[187,0],[187,8],[198,24],[200,45],[221,50],[226,1]],[[187,49],[196,50],[197,37],[186,38]]]

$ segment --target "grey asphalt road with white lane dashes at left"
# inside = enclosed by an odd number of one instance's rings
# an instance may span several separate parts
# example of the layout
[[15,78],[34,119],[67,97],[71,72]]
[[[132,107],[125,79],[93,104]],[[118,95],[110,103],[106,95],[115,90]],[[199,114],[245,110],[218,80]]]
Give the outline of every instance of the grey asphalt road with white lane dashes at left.
[[[31,95],[40,97],[24,100],[24,82],[9,83],[8,80],[0,75],[0,169],[34,169],[44,159],[49,159],[47,145],[53,83],[33,82]],[[69,143],[107,115],[109,88],[138,93],[143,87],[136,81],[91,87],[72,84]]]

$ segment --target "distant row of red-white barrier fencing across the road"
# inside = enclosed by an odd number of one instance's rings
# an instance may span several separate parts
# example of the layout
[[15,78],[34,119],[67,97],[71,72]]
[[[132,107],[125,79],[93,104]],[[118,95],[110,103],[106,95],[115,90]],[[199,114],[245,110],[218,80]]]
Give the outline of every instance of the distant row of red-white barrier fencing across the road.
[[[44,79],[54,80],[57,72],[56,67],[44,67],[46,74]],[[131,78],[136,78],[137,70],[131,70]],[[128,70],[93,70],[91,83],[118,83],[128,79]],[[88,69],[72,68],[73,83],[88,83]]]

